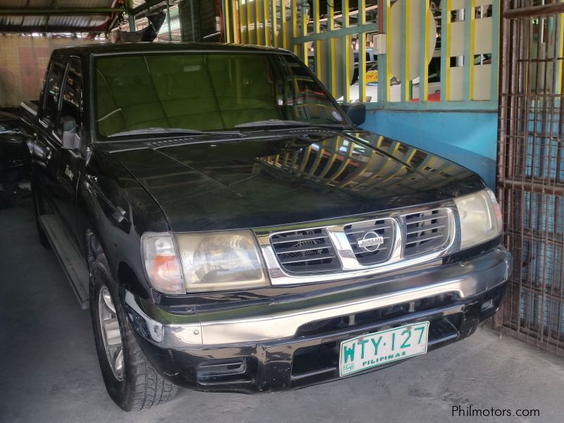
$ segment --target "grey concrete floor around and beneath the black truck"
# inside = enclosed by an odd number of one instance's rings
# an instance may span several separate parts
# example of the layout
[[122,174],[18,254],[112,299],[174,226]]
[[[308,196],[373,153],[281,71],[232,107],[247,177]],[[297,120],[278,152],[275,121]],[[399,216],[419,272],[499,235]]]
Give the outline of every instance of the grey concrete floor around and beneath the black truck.
[[[31,207],[0,211],[0,422],[561,422],[564,360],[482,328],[388,369],[300,391],[245,396],[180,391],[147,412],[106,395],[90,314],[78,307]],[[540,417],[451,417],[453,405]]]

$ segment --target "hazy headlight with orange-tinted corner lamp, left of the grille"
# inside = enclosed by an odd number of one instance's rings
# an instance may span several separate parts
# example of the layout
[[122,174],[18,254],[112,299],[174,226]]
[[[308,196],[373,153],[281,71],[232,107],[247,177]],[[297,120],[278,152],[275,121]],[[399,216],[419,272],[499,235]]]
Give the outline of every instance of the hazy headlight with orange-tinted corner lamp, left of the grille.
[[251,231],[180,233],[176,237],[147,233],[142,244],[147,276],[164,293],[269,285]]

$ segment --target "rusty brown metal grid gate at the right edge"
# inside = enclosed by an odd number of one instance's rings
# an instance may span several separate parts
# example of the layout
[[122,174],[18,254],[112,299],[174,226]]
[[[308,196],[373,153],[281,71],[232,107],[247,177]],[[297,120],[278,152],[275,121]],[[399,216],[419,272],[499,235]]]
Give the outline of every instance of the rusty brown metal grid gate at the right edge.
[[514,257],[497,323],[564,355],[564,4],[502,5],[498,196]]

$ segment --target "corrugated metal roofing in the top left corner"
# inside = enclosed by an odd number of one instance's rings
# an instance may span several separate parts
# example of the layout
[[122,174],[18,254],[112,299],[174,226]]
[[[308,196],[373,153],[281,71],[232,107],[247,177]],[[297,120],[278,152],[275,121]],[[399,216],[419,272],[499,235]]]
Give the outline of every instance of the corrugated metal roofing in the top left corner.
[[0,1],[0,32],[88,32],[103,27],[111,19],[111,13],[104,15],[43,15],[13,16],[2,15],[7,9],[59,9],[114,8],[121,6],[119,0],[2,0]]

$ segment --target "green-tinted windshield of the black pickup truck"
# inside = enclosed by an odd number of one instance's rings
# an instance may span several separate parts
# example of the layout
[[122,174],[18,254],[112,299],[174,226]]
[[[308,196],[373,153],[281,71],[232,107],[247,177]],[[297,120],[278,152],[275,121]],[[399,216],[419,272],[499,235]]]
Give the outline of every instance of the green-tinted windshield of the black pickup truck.
[[99,57],[94,69],[102,139],[144,128],[154,133],[230,130],[270,120],[345,121],[305,66],[288,54],[127,54]]

